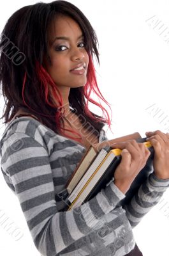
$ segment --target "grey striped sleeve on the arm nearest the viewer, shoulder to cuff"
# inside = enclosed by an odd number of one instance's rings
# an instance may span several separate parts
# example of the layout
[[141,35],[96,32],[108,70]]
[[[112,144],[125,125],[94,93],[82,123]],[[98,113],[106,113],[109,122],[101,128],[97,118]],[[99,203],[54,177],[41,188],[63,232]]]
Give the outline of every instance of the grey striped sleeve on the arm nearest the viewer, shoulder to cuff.
[[[37,132],[36,138],[40,138]],[[50,159],[43,138],[15,132],[4,141],[1,154],[1,168],[15,188],[34,244],[43,256],[55,256],[88,234],[125,197],[112,182],[86,204],[58,211],[51,169],[52,161],[57,161],[60,171],[57,151],[52,156],[55,159]]]

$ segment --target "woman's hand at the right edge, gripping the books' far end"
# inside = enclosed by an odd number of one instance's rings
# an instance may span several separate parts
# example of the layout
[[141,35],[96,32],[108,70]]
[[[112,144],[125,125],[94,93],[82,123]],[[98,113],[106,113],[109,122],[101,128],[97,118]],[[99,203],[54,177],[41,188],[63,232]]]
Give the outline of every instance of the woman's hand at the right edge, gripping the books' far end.
[[145,132],[154,147],[153,167],[159,179],[169,179],[169,134],[161,131]]

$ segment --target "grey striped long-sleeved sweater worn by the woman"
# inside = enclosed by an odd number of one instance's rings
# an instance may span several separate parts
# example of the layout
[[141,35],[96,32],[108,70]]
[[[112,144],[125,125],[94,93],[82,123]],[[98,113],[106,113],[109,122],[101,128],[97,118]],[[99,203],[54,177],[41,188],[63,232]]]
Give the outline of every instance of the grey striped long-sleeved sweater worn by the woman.
[[[99,142],[107,140],[105,131]],[[11,120],[0,141],[1,172],[17,196],[34,245],[43,256],[123,256],[135,246],[132,229],[169,187],[149,175],[124,207],[112,181],[87,203],[64,211],[66,182],[86,148],[29,116]]]

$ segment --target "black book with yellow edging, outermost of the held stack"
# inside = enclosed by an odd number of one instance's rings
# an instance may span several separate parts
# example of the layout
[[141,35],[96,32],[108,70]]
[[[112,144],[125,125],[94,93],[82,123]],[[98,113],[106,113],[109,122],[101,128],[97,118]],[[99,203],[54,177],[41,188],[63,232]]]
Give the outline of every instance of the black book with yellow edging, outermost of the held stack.
[[[123,200],[121,200],[119,205],[128,204],[129,200],[131,200],[132,196],[135,195],[136,191],[138,191],[141,184],[145,181],[145,179],[147,179],[150,173],[153,172],[152,160],[154,157],[154,150],[151,147],[151,144],[149,143],[149,141],[146,141],[145,139],[146,138],[140,138],[136,141],[140,143],[144,143],[145,147],[148,147],[149,150],[151,151],[151,156],[149,156],[149,159],[147,160],[145,167],[138,173],[135,180],[133,180],[129,190],[126,192],[126,197]],[[101,175],[101,166],[103,166],[107,157],[105,157],[104,161],[99,165],[99,167],[92,174],[92,177],[89,180],[87,180],[87,182],[85,183],[81,191],[78,193],[78,195],[74,197],[74,200],[69,202],[70,207],[68,210],[70,210],[71,208],[77,207],[81,204],[84,204],[85,202],[90,200],[93,196],[96,196],[97,193],[101,191],[102,188],[105,188],[105,186],[108,186],[108,184],[111,182],[111,180],[114,177],[115,169],[117,168],[118,164],[121,161],[121,150],[117,151],[116,153],[115,153],[115,150],[112,150],[112,152],[113,151],[114,151],[115,157],[112,157],[112,161],[109,163],[105,172],[103,172],[103,175]],[[99,177],[98,180],[97,180],[97,176]],[[96,178],[95,180],[94,180],[94,177]]]

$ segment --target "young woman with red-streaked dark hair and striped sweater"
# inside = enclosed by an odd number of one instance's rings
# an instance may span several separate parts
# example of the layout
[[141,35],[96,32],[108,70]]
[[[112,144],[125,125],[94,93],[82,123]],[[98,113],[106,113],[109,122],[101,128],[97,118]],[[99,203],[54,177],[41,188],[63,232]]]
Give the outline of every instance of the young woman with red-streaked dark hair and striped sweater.
[[[94,198],[65,211],[66,182],[89,145],[107,140],[110,117],[101,104],[93,56],[97,37],[89,20],[67,1],[25,6],[11,15],[1,34],[0,82],[6,129],[1,170],[17,196],[34,244],[43,256],[142,255],[134,228],[169,187],[169,136],[147,136],[154,172],[124,207],[117,204],[149,157],[131,140],[122,148],[114,181]],[[89,110],[96,104],[103,116]]]

